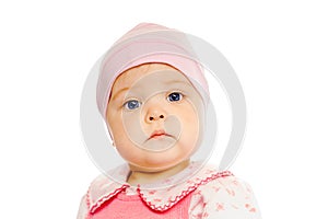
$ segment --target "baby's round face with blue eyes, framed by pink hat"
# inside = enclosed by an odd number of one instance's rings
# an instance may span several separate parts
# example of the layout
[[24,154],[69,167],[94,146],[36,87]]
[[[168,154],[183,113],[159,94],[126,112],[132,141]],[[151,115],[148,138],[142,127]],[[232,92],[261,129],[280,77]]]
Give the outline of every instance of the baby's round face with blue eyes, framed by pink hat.
[[120,155],[143,171],[189,159],[199,145],[202,102],[190,81],[164,64],[145,64],[120,74],[106,118]]

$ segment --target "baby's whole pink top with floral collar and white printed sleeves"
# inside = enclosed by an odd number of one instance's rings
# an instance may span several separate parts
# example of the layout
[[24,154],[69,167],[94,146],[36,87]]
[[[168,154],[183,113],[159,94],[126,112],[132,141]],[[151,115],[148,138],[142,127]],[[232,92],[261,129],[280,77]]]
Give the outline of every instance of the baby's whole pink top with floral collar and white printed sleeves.
[[[218,172],[214,168],[204,166],[195,174],[198,168],[191,162],[175,176],[138,187],[101,175],[82,198],[78,219],[260,218],[249,185],[231,172]],[[120,181],[128,172],[128,166],[122,165],[110,175]],[[189,180],[179,183],[184,178]]]

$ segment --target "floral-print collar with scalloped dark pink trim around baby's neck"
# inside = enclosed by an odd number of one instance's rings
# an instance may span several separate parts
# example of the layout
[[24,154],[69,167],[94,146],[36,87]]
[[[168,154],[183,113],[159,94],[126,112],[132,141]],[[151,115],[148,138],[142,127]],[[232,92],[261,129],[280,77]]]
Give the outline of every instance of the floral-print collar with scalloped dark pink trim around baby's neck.
[[[126,188],[133,188],[128,183],[119,183],[125,182],[128,173],[129,168],[125,164],[108,173],[116,181],[107,175],[101,175],[91,184],[87,192],[87,206],[91,214],[117,194],[125,192]],[[197,189],[198,186],[230,175],[232,173],[229,171],[219,172],[213,166],[201,166],[198,162],[191,162],[188,168],[172,177],[140,185],[136,189],[149,208],[165,211]],[[188,180],[186,181],[186,178]]]

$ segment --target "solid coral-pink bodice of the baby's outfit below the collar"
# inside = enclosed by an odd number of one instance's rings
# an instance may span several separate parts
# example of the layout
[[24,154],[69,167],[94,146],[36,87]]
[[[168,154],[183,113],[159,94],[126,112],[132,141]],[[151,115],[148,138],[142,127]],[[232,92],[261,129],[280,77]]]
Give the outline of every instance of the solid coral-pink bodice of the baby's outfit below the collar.
[[166,211],[155,211],[149,208],[139,195],[120,193],[116,198],[98,208],[90,219],[129,218],[129,219],[178,219],[189,218],[190,195]]

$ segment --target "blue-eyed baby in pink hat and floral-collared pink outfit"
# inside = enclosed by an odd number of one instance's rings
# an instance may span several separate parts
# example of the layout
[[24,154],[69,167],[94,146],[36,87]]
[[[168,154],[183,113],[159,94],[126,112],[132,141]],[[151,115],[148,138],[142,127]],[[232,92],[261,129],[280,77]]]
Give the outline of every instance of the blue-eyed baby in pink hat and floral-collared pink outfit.
[[78,218],[260,218],[246,183],[190,160],[209,88],[183,34],[166,30],[140,24],[103,59],[97,106],[127,164],[91,184]]

